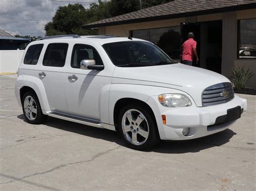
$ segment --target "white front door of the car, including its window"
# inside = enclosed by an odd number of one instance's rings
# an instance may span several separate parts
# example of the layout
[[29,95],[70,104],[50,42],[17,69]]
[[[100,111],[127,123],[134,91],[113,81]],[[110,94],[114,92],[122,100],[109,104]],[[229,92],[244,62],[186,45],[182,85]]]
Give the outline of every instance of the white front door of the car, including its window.
[[[104,86],[111,84],[111,76],[104,70],[80,69],[80,61],[93,59],[96,65],[103,65],[98,52],[93,46],[75,44],[73,46],[70,68],[67,69],[66,104],[70,115],[88,119],[100,119],[99,95]],[[105,103],[106,107],[108,102]]]

